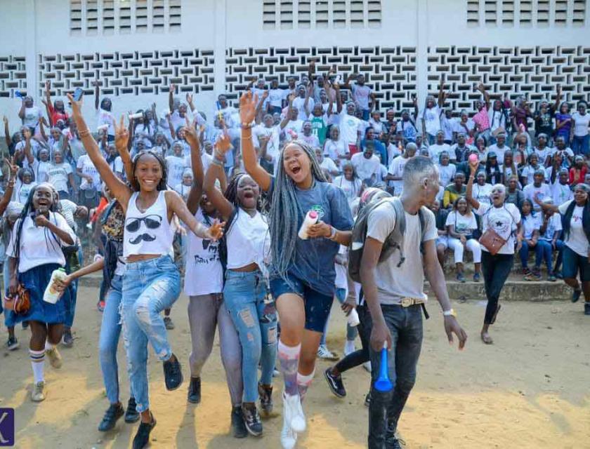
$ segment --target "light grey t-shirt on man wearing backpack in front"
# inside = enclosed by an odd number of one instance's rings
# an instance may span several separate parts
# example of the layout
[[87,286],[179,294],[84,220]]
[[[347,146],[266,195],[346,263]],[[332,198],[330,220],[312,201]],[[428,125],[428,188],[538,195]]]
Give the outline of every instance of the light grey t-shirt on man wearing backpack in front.
[[[436,239],[435,217],[431,210],[422,208],[424,214],[424,239]],[[375,283],[377,285],[379,302],[381,304],[399,304],[405,297],[424,299],[424,267],[420,253],[420,219],[418,214],[410,215],[405,212],[406,228],[404,234],[405,262],[398,267],[400,251],[383,262],[375,269]],[[395,210],[388,204],[381,204],[371,212],[367,220],[367,237],[384,242],[395,227]]]

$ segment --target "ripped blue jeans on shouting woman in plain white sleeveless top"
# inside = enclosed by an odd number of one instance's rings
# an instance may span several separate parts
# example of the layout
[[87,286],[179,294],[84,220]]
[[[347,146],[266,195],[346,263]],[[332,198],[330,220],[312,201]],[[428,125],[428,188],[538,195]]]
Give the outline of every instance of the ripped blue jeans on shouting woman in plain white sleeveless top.
[[270,385],[273,382],[277,358],[275,302],[270,300],[266,281],[258,270],[234,272],[228,269],[223,297],[242,344],[244,402],[256,402],[258,363],[262,370],[260,383]]

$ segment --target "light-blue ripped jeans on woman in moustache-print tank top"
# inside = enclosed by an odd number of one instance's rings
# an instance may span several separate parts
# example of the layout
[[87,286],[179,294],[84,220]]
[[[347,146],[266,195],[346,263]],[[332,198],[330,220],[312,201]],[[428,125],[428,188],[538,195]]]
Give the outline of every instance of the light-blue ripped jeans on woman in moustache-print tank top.
[[127,371],[137,411],[150,408],[147,396],[147,342],[166,361],[172,350],[160,312],[181,294],[181,276],[169,255],[128,263],[123,276],[122,317]]

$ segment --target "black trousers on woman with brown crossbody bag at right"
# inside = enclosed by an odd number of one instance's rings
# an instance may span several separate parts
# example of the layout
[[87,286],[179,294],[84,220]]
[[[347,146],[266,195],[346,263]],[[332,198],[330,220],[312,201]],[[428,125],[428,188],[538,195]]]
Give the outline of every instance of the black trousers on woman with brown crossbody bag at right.
[[492,324],[494,314],[498,308],[500,293],[510,274],[514,262],[513,254],[491,255],[487,251],[481,252],[481,267],[485,283],[487,307],[485,308],[485,324]]

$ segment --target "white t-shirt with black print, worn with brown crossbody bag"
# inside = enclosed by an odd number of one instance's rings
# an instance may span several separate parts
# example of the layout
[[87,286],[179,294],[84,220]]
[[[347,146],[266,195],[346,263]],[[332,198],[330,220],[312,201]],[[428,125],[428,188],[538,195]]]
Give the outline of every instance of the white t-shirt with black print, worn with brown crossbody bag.
[[[500,248],[498,254],[514,254],[514,246],[516,245],[516,229],[520,223],[520,211],[511,203],[504,203],[503,206],[497,208],[490,206],[490,204],[480,203],[480,207],[476,213],[482,217],[482,231],[485,233],[487,229],[494,229],[494,231],[506,240],[504,246]],[[483,251],[487,251],[485,246],[481,246]]]

